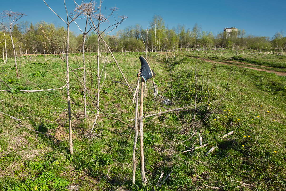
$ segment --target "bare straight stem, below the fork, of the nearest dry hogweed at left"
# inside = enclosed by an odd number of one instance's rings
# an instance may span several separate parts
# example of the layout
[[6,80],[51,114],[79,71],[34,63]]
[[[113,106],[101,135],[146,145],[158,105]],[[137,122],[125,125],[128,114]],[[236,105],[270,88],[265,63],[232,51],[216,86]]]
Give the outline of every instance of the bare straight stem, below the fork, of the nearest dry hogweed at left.
[[72,144],[72,115],[71,115],[71,100],[69,97],[69,24],[67,25],[67,46],[66,46],[66,67],[67,67],[67,108],[69,116],[69,153],[73,154]]

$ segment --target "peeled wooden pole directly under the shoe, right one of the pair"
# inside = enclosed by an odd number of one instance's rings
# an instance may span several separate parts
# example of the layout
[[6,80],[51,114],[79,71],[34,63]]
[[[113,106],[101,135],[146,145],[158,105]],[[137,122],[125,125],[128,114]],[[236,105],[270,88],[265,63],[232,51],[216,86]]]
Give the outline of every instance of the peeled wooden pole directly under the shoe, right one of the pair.
[[140,113],[139,113],[139,130],[140,130],[140,164],[141,164],[141,179],[145,186],[145,165],[144,165],[144,143],[143,143],[143,95],[144,95],[144,81],[141,82],[140,94]]

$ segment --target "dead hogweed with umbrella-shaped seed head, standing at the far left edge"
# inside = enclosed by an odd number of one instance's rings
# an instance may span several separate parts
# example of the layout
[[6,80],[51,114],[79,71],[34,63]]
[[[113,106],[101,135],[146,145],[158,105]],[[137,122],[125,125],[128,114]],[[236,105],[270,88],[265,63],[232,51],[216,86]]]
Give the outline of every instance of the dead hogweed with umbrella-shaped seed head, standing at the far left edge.
[[12,26],[17,22],[21,17],[25,16],[24,13],[19,13],[19,12],[13,12],[13,11],[3,11],[1,13],[1,18],[2,20],[9,17],[9,29],[3,24],[3,22],[0,22],[0,24],[9,32],[10,38],[11,38],[11,43],[12,43],[12,48],[13,48],[13,53],[14,53],[14,61],[15,61],[15,68],[16,68],[16,77],[19,78],[19,73],[18,73],[18,67],[17,67],[17,60],[16,60],[16,53],[15,53],[15,46],[13,42],[13,37],[12,37]]

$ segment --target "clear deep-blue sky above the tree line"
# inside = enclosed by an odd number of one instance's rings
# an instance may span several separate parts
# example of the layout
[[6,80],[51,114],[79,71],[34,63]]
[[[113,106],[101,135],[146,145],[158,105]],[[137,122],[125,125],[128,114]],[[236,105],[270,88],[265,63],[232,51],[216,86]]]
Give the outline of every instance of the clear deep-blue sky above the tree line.
[[[62,17],[65,17],[65,9],[61,0],[46,0],[49,6]],[[81,3],[81,1],[77,1]],[[74,8],[73,0],[66,0],[67,9]],[[12,10],[27,14],[21,20],[32,21],[33,23],[44,20],[64,24],[52,13],[42,0],[10,0],[1,1],[3,10]],[[104,0],[103,7],[118,7],[119,15],[126,15],[124,21],[114,33],[129,25],[139,23],[143,28],[149,25],[154,14],[161,15],[165,24],[172,28],[178,23],[191,28],[194,23],[202,26],[204,31],[212,31],[214,34],[222,32],[224,27],[236,27],[245,29],[247,34],[272,37],[276,32],[286,30],[285,0],[241,0],[241,1],[168,1],[168,0]],[[76,25],[71,29],[80,33]]]

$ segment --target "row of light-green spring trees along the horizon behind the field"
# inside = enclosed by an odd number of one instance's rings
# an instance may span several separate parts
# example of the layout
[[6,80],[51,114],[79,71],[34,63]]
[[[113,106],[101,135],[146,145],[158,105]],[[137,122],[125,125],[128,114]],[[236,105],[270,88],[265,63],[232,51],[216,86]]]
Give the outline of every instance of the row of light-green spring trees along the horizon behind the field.
[[[29,31],[29,32],[28,32]],[[13,55],[11,39],[7,38],[7,55]],[[17,44],[15,49],[17,56],[23,54],[61,54],[66,47],[66,29],[63,26],[47,22],[33,24],[28,21],[21,21],[13,25],[12,36]],[[104,39],[113,52],[144,52],[146,48],[147,30],[140,24],[127,26],[119,30],[114,35],[104,34]],[[70,31],[69,46],[73,52],[82,50],[82,34]],[[90,32],[86,36],[86,50],[96,52],[98,37],[96,33]],[[5,54],[4,30],[1,28],[0,51]],[[100,44],[104,51],[104,44]],[[277,32],[272,38],[247,35],[245,30],[238,29],[231,32],[226,38],[225,32],[214,35],[212,32],[203,31],[197,23],[193,28],[187,28],[180,23],[173,28],[165,26],[165,22],[160,15],[154,15],[148,26],[148,51],[174,51],[185,50],[209,50],[213,48],[230,49],[285,49],[286,36],[283,32]],[[4,58],[4,56],[3,56]]]

